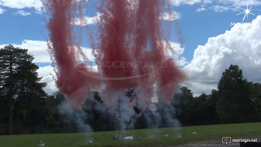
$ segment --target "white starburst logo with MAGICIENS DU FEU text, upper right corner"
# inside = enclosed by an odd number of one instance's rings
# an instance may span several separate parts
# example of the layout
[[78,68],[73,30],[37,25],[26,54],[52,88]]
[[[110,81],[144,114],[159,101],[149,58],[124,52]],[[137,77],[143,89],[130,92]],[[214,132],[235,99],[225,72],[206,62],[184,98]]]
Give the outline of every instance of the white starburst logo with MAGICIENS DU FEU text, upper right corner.
[[[233,5],[233,6],[235,6],[235,5]],[[240,8],[238,6],[235,6],[235,7]],[[252,8],[252,6],[250,8],[248,8],[248,4],[247,4],[246,9],[240,8],[240,9],[243,9],[243,12],[238,13],[237,15],[242,14],[242,13],[245,14],[242,21],[245,20],[245,17],[248,18],[248,15],[250,15],[250,14],[255,15],[255,14],[251,13],[251,11],[253,10],[251,8]],[[259,22],[256,22],[256,23],[247,23],[247,22],[246,23],[244,23],[244,22],[239,22],[239,23],[234,22],[234,23],[232,23],[231,22],[230,26],[231,27],[232,26],[239,26],[240,27],[240,28],[237,28],[237,30],[235,30],[235,32],[240,32],[240,33],[242,33],[242,32],[255,32],[255,27],[259,27],[260,23]],[[255,27],[249,28],[249,27],[252,27],[252,26],[255,26]]]

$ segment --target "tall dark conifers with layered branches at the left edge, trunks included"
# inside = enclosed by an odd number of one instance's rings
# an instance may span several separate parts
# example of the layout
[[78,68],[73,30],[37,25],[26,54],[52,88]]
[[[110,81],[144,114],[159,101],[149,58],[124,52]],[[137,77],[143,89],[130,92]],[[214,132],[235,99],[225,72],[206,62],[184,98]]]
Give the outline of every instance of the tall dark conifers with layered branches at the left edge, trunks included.
[[[26,121],[31,117],[29,123],[35,123],[36,120],[32,119],[39,118],[39,106],[45,103],[47,96],[43,90],[47,83],[40,82],[41,78],[37,73],[39,67],[32,63],[34,58],[28,55],[27,51],[11,44],[0,50],[0,87],[2,100],[8,100],[9,134],[13,134],[13,110],[16,112],[18,134],[21,120]],[[28,117],[25,118],[24,115]]]

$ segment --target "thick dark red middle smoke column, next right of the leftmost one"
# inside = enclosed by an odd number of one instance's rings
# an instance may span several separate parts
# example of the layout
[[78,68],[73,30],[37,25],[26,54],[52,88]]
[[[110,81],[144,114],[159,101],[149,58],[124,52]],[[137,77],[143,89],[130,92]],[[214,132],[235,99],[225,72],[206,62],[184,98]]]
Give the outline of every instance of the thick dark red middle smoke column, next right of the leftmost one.
[[[122,0],[102,0],[102,4],[99,7],[99,12],[103,15],[99,22],[99,30],[102,32],[100,35],[100,52],[103,55],[101,63],[101,70],[104,77],[131,77],[135,76],[136,71],[133,67],[120,68],[120,64],[116,64],[116,67],[106,66],[106,63],[112,62],[134,62],[135,58],[129,53],[132,50],[130,43],[126,39],[126,35],[129,34],[131,25],[131,19],[129,19],[129,12],[127,9],[127,1]],[[120,80],[120,81],[107,81],[106,89],[118,90],[126,89],[128,87],[137,87],[138,82],[136,79]]]

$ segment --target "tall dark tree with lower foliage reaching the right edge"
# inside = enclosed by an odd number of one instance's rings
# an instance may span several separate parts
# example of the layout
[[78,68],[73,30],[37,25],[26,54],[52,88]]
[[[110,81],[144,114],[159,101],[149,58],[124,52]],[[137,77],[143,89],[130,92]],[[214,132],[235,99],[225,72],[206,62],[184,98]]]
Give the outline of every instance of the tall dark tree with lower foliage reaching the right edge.
[[260,110],[259,96],[259,84],[243,79],[242,70],[230,65],[218,83],[217,114],[221,123],[257,121],[252,114]]

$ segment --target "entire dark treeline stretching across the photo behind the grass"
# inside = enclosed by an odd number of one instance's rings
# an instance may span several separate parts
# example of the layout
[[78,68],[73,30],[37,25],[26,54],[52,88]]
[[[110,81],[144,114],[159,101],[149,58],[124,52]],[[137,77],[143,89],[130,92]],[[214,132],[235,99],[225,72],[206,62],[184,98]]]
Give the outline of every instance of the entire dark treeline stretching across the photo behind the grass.
[[[28,124],[61,126],[66,133],[90,131],[89,126],[91,131],[107,131],[123,129],[122,123],[130,125],[110,111],[98,111],[103,107],[98,91],[90,92],[91,99],[86,99],[81,111],[62,112],[59,107],[65,97],[59,91],[46,94],[47,84],[40,82],[39,67],[32,60],[26,49],[7,45],[0,50],[0,124],[8,124],[9,134],[19,134]],[[135,98],[135,89],[126,96],[130,101]],[[261,84],[247,81],[237,65],[230,65],[210,94],[194,97],[190,89],[181,87],[170,105],[160,100],[156,105],[155,114],[143,110],[134,127],[125,129],[261,122]]]

